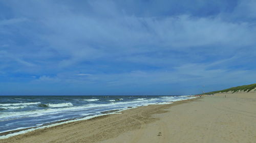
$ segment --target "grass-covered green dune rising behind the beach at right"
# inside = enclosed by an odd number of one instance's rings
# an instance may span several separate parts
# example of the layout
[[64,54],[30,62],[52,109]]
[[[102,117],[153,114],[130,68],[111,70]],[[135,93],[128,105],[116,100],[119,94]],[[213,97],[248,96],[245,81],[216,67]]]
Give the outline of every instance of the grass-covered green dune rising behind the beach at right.
[[251,91],[253,89],[256,88],[256,83],[254,84],[249,84],[249,85],[242,85],[242,86],[238,86],[238,87],[233,87],[233,88],[229,88],[229,89],[226,89],[226,90],[221,90],[221,91],[215,91],[215,92],[208,92],[208,93],[205,93],[205,94],[215,94],[215,93],[224,93],[224,92],[232,92],[232,93],[235,93],[235,92],[238,92],[238,91]]

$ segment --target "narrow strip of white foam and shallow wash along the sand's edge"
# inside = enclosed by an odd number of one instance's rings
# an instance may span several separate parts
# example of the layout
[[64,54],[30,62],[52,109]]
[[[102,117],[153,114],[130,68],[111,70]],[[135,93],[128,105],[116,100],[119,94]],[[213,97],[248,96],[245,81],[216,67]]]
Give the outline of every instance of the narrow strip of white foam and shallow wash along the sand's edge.
[[[196,98],[196,97],[194,97]],[[191,99],[194,99],[193,97]],[[186,99],[186,100],[190,100],[190,99]],[[180,101],[185,101],[185,100],[180,100]],[[179,101],[175,101],[175,102],[179,102]],[[166,102],[165,104],[173,104],[175,102]],[[151,106],[151,105],[162,105],[162,104],[150,104],[150,105],[145,105],[145,106]],[[40,126],[34,126],[34,127],[28,127],[28,128],[23,128],[23,129],[14,129],[14,130],[8,130],[8,131],[4,131],[0,133],[0,141],[3,139],[7,139],[9,137],[13,137],[13,136],[17,136],[17,135],[23,135],[29,132],[33,132],[36,130],[41,130],[41,129],[48,129],[51,127],[55,127],[55,126],[60,126],[63,124],[70,124],[70,123],[74,123],[74,122],[79,122],[79,121],[85,121],[85,120],[91,120],[91,119],[95,119],[97,117],[104,117],[104,116],[108,116],[108,115],[113,115],[113,114],[119,114],[122,113],[122,111],[128,110],[128,109],[133,109],[133,108],[139,108],[139,107],[143,107],[143,106],[135,106],[135,107],[127,107],[125,109],[112,109],[112,110],[106,110],[106,111],[102,111],[100,115],[94,115],[94,116],[86,116],[86,117],[80,117],[80,118],[73,118],[73,119],[66,119],[66,120],[60,120],[60,121],[55,121],[52,123],[45,123],[42,124]]]

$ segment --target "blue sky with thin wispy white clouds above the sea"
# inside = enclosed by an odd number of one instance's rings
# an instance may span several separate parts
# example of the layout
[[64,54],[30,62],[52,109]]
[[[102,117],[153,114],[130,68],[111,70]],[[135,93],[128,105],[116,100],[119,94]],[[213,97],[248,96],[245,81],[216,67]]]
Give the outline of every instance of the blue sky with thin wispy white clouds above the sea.
[[255,83],[256,1],[0,1],[0,95],[187,95]]

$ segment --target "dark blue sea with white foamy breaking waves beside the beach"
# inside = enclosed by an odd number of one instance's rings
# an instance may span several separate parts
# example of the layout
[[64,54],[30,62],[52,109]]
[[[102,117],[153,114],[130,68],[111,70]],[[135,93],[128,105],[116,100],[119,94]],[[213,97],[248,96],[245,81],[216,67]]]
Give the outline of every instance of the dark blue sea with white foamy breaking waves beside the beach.
[[[0,138],[189,96],[0,96]],[[9,135],[10,136],[10,135]]]

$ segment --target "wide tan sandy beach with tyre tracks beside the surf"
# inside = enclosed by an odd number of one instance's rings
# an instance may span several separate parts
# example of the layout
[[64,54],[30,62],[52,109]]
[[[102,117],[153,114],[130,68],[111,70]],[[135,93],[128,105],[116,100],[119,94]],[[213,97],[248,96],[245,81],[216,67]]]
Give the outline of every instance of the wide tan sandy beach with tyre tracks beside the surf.
[[125,110],[0,142],[256,142],[256,94],[220,94]]

